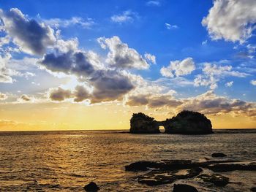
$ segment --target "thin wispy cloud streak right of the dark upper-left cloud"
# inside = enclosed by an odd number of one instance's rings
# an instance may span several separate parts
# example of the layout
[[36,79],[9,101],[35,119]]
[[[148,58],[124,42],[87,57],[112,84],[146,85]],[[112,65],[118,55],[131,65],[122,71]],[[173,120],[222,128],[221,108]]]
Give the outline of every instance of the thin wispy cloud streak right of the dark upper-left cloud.
[[91,18],[80,18],[72,17],[70,19],[60,19],[60,18],[51,18],[48,20],[43,20],[48,26],[55,28],[67,28],[69,26],[81,26],[82,28],[91,28],[94,26],[94,21]]

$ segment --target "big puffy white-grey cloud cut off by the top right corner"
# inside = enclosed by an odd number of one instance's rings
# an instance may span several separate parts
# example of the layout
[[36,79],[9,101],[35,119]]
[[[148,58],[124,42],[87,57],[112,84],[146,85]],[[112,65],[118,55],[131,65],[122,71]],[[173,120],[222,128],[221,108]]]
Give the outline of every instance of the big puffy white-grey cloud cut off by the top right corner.
[[211,38],[243,43],[252,37],[256,23],[255,0],[215,0],[202,24]]

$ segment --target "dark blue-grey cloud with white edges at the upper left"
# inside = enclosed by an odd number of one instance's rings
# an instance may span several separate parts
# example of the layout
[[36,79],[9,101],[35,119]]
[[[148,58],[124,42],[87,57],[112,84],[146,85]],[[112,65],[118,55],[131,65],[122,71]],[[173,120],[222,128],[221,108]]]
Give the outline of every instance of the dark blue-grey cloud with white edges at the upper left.
[[52,28],[37,23],[36,20],[29,20],[17,8],[9,11],[0,9],[0,18],[4,23],[4,30],[26,53],[42,55],[46,48],[56,41]]

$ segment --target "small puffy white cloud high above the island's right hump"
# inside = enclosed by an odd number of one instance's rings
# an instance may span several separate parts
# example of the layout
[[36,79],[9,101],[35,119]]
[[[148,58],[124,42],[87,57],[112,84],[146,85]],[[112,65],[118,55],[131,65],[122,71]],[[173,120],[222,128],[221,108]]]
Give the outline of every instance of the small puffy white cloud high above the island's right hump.
[[[176,77],[191,74],[195,70],[195,62],[192,58],[185,58],[182,61],[170,61],[170,65],[162,67],[160,73],[163,77]],[[173,74],[174,73],[174,74]]]

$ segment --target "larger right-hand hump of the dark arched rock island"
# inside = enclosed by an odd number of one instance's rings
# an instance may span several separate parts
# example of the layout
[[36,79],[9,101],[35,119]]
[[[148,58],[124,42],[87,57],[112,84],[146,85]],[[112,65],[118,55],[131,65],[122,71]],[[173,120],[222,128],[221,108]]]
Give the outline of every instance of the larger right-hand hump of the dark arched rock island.
[[200,112],[182,111],[165,120],[167,134],[212,134],[211,120]]

